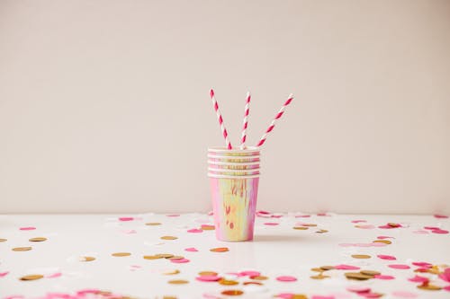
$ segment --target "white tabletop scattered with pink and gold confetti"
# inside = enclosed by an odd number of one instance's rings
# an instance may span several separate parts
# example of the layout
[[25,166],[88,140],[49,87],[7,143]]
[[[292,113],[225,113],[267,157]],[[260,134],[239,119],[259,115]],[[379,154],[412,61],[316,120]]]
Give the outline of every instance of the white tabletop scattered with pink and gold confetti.
[[0,299],[450,298],[449,229],[257,211],[253,242],[220,242],[211,213],[0,215]]

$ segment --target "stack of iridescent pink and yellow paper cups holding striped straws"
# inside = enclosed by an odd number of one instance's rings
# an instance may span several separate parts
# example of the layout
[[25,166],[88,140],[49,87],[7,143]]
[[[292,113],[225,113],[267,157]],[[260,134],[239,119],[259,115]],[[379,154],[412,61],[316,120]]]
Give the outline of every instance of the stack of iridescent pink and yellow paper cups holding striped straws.
[[221,241],[253,240],[259,183],[258,147],[208,149],[208,176],[216,237]]

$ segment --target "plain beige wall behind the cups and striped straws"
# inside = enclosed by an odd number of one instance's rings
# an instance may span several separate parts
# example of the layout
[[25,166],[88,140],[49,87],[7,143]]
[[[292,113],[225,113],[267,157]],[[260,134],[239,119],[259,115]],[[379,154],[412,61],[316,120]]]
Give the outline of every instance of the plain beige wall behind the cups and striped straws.
[[0,213],[210,209],[206,147],[264,148],[259,207],[450,213],[450,1],[0,0]]

